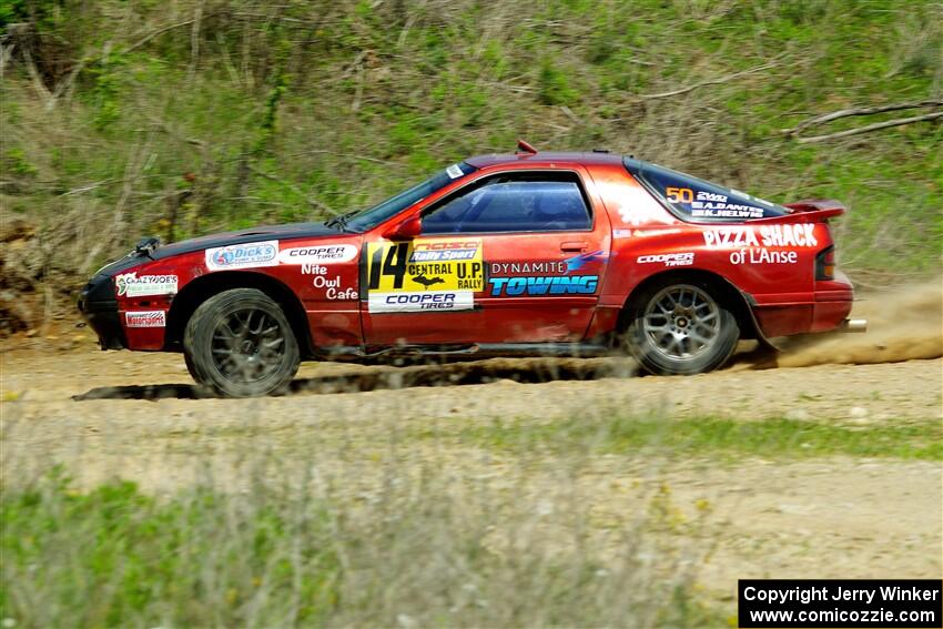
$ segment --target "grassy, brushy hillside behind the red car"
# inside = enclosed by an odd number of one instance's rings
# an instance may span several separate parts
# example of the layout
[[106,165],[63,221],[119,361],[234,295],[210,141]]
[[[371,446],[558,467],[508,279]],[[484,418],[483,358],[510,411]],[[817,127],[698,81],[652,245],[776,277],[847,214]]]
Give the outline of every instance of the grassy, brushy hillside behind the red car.
[[939,101],[941,24],[935,0],[2,0],[0,205],[65,288],[140,234],[323,219],[524,136],[840,199],[844,266],[886,284],[940,270],[940,119],[782,130]]

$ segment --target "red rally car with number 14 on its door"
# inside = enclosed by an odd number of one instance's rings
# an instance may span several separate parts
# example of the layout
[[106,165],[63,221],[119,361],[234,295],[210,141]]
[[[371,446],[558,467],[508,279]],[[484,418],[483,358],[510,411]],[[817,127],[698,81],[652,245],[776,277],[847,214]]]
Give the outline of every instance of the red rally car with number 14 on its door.
[[649,372],[697,374],[739,338],[863,328],[829,232],[843,212],[521,142],[325,223],[145,239],[79,308],[102,348],[182,351],[226,396],[284,389],[301,359],[403,353],[625,348]]

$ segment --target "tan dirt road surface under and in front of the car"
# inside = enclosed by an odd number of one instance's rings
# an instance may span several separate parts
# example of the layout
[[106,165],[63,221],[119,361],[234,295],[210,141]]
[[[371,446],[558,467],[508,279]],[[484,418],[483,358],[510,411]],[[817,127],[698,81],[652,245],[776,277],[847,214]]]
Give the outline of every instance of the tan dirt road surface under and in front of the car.
[[[486,487],[540,504],[559,494],[562,475],[564,503],[576,499],[614,549],[620,527],[668,488],[679,521],[700,523],[671,539],[700,558],[698,580],[721,599],[746,577],[943,572],[939,463],[602,455],[554,467],[555,455],[539,446],[518,456],[456,437],[496,417],[540,425],[619,413],[925,423],[941,419],[940,359],[759,368],[768,362],[747,354],[729,369],[688,378],[642,377],[627,359],[317,364],[303,366],[293,395],[230,400],[195,398],[180,356],[73,345],[37,352],[27,343],[4,353],[4,478],[64,463],[80,485],[120,476],[159,493],[197,479],[245,490],[254,464],[265,460],[287,475],[316,469],[352,503],[432,473],[454,477],[462,490]],[[548,500],[548,513],[559,508]]]

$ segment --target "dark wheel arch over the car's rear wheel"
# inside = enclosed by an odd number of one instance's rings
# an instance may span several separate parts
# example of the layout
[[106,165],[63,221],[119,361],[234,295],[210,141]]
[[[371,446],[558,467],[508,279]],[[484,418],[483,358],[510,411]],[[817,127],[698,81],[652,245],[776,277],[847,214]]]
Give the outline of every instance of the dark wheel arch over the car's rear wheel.
[[720,300],[737,319],[737,325],[740,327],[741,338],[757,338],[763,343],[768,343],[753,316],[753,310],[750,306],[749,294],[740,291],[730,280],[701,268],[671,268],[649,275],[639,282],[631,290],[622,304],[622,311],[619,313],[619,332],[625,332],[629,328],[637,311],[641,307],[639,296],[655,284],[665,282],[692,282],[698,281],[712,287],[716,292],[714,297]]

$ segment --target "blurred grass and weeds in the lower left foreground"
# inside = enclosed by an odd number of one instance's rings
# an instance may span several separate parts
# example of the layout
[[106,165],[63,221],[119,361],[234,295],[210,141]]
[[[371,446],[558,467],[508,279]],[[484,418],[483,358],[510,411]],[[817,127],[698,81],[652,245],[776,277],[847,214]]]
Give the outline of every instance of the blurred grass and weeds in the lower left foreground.
[[[260,478],[245,491],[201,486],[154,498],[130,483],[82,493],[52,474],[0,497],[0,618],[16,627],[720,620],[694,599],[669,552],[641,559],[656,549],[640,531],[627,530],[604,552],[577,532],[585,523],[572,520],[582,515],[548,520],[574,531],[561,535],[546,530],[534,505],[485,509],[432,479],[415,490],[402,503],[391,490],[345,506]],[[666,500],[652,500],[652,517],[670,511]]]

